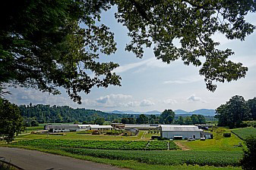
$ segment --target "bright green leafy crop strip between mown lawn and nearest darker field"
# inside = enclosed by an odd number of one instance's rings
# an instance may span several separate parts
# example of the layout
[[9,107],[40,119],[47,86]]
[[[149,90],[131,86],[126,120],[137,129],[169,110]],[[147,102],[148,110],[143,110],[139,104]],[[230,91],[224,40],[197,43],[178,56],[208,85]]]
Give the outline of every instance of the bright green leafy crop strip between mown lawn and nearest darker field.
[[12,145],[33,147],[67,147],[101,150],[177,150],[172,141],[80,141],[37,139],[20,141]]

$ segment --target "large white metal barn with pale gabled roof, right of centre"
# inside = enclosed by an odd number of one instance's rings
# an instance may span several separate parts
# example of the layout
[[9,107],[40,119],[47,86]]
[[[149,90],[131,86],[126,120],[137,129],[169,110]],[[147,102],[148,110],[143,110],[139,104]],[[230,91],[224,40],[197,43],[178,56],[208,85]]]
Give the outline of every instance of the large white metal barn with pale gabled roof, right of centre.
[[162,138],[194,138],[200,139],[201,129],[195,125],[160,125]]

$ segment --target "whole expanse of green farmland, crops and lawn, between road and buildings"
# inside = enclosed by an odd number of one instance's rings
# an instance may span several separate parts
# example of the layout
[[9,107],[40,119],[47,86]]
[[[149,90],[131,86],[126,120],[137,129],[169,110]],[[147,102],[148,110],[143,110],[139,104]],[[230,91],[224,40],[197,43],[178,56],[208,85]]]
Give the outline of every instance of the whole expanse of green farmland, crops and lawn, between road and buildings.
[[[206,141],[175,141],[188,148],[177,150],[172,141],[152,141],[148,131],[137,136],[93,135],[68,132],[65,135],[24,134],[17,136],[11,147],[21,147],[43,152],[118,165],[134,170],[158,169],[241,169],[243,141],[235,134],[224,138],[226,128],[214,130],[214,139]],[[159,134],[158,134],[159,135]],[[244,144],[243,144],[244,145]],[[223,168],[220,168],[223,167]]]

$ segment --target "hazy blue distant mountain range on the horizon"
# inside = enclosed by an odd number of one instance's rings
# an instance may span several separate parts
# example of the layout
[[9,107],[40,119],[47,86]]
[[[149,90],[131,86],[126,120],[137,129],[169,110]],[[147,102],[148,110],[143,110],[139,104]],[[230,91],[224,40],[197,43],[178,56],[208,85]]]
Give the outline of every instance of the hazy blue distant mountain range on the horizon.
[[[194,110],[192,112],[187,112],[185,110],[175,110],[174,111],[176,116],[191,116],[192,114],[197,114],[197,115],[204,115],[204,116],[214,116],[215,115],[215,110],[208,110],[208,109],[201,109],[201,110]],[[149,114],[149,115],[159,115],[161,114],[160,111],[158,110],[152,110],[148,111],[146,113],[141,113],[141,112],[135,112],[133,110],[125,110],[125,111],[119,111],[119,110],[113,110],[112,112],[109,113],[115,113],[115,114]]]

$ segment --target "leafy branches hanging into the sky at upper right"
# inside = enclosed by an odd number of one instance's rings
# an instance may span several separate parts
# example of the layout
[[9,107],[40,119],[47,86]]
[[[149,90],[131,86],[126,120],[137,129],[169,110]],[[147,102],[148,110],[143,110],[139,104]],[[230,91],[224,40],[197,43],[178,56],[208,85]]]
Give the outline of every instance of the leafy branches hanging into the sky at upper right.
[[[131,43],[126,50],[142,57],[144,46],[153,46],[157,59],[170,63],[182,59],[185,65],[201,66],[207,88],[215,91],[216,82],[230,82],[245,76],[242,63],[233,63],[230,49],[217,49],[212,36],[220,32],[227,39],[244,40],[255,26],[245,15],[255,12],[254,0],[117,0],[115,17],[127,26]],[[174,45],[178,40],[181,47]],[[202,63],[201,57],[205,57]]]

